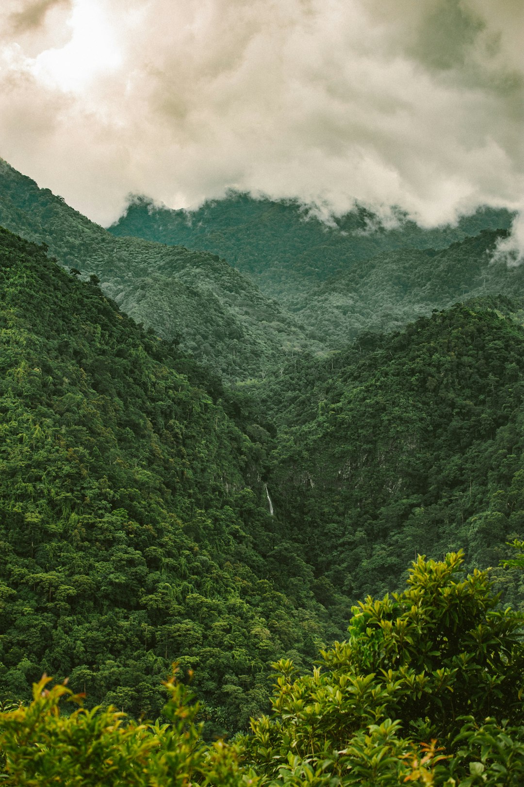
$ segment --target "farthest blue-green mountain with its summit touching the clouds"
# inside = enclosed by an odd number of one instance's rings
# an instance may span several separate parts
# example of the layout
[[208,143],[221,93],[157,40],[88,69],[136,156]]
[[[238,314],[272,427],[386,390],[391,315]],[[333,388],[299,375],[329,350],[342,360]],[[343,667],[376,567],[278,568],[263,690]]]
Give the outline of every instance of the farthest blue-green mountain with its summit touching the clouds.
[[296,202],[247,194],[232,193],[194,211],[170,210],[137,197],[109,231],[220,254],[263,292],[297,308],[319,283],[379,253],[445,249],[484,229],[508,229],[511,224],[511,214],[497,209],[478,210],[456,227],[434,230],[399,218],[398,227],[386,230],[363,208],[325,224]]

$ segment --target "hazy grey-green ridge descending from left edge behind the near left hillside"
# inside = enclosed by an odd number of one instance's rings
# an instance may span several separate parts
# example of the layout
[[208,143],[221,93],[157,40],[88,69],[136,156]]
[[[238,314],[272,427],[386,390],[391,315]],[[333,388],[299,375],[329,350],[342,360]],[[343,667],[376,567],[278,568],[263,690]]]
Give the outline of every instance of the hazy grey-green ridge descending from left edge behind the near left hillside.
[[295,317],[216,254],[113,238],[2,159],[0,225],[46,243],[60,264],[97,275],[137,322],[226,379],[263,376],[287,353],[319,349]]

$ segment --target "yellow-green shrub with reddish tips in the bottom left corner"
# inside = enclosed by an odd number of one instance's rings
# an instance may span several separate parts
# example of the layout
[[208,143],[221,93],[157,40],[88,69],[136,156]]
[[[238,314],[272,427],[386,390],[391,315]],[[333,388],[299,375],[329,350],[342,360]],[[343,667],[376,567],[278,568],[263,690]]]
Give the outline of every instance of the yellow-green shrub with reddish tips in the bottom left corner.
[[49,678],[34,686],[34,699],[0,715],[0,750],[6,785],[242,785],[256,783],[240,770],[234,746],[208,746],[196,723],[198,703],[185,686],[171,680],[164,714],[170,723],[137,724],[114,708],[77,708],[60,712],[69,700],[65,685],[46,689]]

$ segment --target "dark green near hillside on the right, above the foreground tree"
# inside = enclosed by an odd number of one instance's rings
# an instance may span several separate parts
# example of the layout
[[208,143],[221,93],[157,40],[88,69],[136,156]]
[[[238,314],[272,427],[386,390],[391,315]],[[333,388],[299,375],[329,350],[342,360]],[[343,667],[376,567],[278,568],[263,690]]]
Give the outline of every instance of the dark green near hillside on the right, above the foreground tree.
[[[479,299],[259,389],[277,419],[270,485],[303,554],[351,597],[398,586],[417,552],[494,566],[524,529],[524,329]],[[272,411],[273,408],[273,411]],[[508,600],[522,600],[521,586]]]

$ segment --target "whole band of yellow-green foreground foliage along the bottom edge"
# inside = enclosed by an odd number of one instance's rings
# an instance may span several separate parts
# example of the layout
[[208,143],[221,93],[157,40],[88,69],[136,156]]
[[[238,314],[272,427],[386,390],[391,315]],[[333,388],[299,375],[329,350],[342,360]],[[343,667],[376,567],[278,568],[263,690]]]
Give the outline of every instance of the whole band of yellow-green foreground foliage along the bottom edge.
[[0,713],[2,776],[68,787],[517,787],[522,616],[497,611],[486,572],[464,576],[461,562],[419,557],[401,593],[353,609],[349,637],[313,674],[275,664],[272,718],[232,744],[203,744],[198,705],[173,680],[168,723],[137,725],[114,709],[60,714],[71,692],[42,679],[27,708]]

